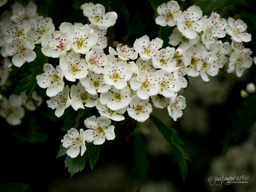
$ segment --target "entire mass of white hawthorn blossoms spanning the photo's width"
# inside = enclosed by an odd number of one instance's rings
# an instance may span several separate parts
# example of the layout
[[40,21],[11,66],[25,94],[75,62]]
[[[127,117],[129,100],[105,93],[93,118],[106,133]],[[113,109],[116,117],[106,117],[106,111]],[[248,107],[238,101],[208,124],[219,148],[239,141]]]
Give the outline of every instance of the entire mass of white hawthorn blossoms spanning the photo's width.
[[[243,45],[251,35],[242,20],[226,21],[214,12],[207,18],[197,6],[182,12],[171,0],[157,8],[156,17],[156,24],[176,26],[169,37],[171,46],[163,47],[162,39],[150,40],[144,35],[135,40],[133,47],[118,44],[112,48],[107,47],[106,33],[117,20],[116,12],[106,12],[103,5],[93,3],[83,4],[81,10],[90,24],[63,22],[58,30],[51,18],[38,16],[32,2],[26,8],[14,4],[12,13],[4,12],[1,17],[1,55],[12,56],[14,66],[34,61],[35,46],[45,56],[59,59],[57,66],[44,64],[43,73],[36,76],[38,86],[45,88],[50,98],[46,101],[48,107],[58,118],[68,107],[75,111],[96,107],[99,112],[99,117],[84,120],[87,130],[71,128],[61,140],[71,158],[84,154],[85,142],[100,145],[113,140],[111,123],[124,120],[124,114],[144,122],[154,106],[167,108],[176,121],[186,107],[185,98],[178,95],[188,85],[186,76],[200,75],[209,81],[208,76],[216,76],[226,63],[227,72],[235,70],[237,76],[242,76],[252,65],[252,51]],[[226,34],[231,44],[221,41]],[[8,76],[5,65],[3,76]],[[1,103],[5,110],[1,115],[7,118],[4,114],[11,110],[4,103],[7,99]]]

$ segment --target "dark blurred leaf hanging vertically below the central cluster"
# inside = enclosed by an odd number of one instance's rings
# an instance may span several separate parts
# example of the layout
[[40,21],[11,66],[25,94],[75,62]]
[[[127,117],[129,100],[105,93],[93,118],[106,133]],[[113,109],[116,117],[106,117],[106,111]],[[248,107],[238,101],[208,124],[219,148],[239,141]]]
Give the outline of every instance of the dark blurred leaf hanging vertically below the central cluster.
[[141,184],[146,178],[149,162],[141,136],[136,132],[133,132],[131,136],[134,137],[134,167],[132,172],[138,176],[138,181]]

